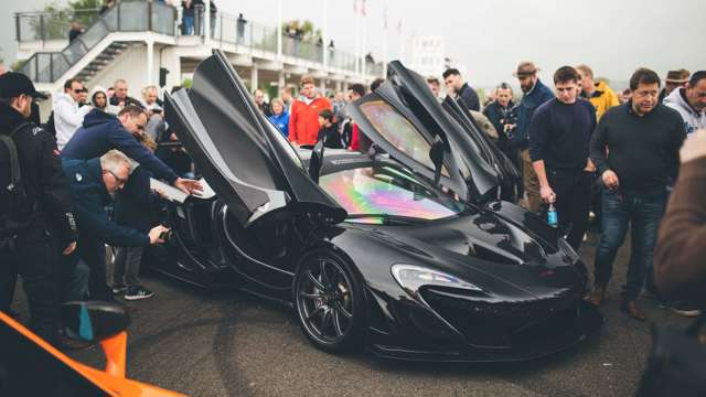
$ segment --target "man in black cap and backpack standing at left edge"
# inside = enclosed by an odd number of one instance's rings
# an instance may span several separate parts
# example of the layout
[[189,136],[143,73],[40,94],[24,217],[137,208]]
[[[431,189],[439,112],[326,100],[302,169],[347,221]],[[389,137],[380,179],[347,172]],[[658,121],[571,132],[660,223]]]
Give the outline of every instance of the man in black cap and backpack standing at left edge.
[[30,120],[36,98],[46,99],[23,74],[0,76],[0,311],[9,311],[21,275],[30,328],[54,343],[56,243],[69,255],[77,230],[54,137]]

